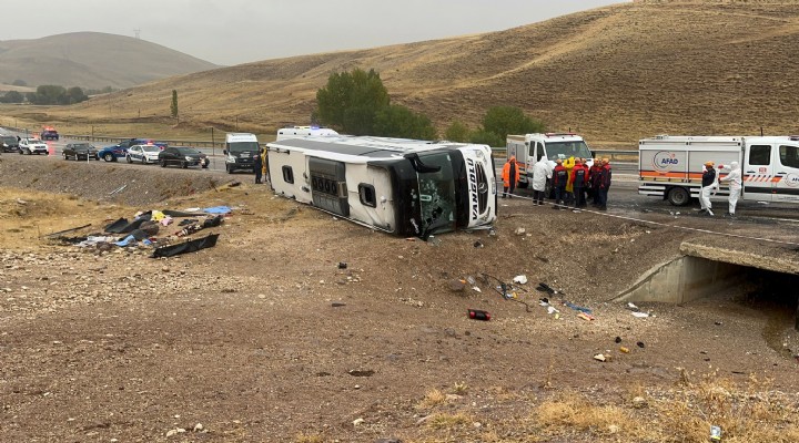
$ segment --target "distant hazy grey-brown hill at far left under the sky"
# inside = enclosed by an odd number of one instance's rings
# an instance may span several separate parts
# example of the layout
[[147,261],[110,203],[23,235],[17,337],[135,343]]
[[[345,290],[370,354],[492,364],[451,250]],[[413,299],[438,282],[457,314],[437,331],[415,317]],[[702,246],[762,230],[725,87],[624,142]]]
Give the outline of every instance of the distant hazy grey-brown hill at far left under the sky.
[[74,32],[0,42],[0,83],[130,87],[172,75],[218,68],[144,40]]

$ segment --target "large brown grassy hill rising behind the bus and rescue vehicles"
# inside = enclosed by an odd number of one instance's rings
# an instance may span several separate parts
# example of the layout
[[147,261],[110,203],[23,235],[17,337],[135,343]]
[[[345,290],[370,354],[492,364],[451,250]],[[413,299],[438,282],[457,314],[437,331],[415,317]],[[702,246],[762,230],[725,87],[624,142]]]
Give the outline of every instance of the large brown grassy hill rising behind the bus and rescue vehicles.
[[170,78],[70,109],[72,115],[169,115],[271,132],[306,123],[327,76],[381,72],[395,102],[441,132],[514,105],[595,145],[634,147],[657,133],[796,133],[799,3],[634,2],[502,32],[269,60]]

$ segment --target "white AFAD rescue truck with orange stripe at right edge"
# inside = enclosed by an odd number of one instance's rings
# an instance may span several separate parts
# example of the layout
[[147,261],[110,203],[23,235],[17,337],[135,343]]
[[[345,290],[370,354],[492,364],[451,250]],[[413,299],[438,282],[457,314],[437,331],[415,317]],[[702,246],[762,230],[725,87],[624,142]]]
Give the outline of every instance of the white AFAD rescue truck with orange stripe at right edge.
[[[699,197],[705,162],[719,177],[738,162],[741,198],[799,203],[799,136],[658,135],[638,142],[638,194],[668,199],[676,206]],[[718,196],[727,197],[721,185]]]

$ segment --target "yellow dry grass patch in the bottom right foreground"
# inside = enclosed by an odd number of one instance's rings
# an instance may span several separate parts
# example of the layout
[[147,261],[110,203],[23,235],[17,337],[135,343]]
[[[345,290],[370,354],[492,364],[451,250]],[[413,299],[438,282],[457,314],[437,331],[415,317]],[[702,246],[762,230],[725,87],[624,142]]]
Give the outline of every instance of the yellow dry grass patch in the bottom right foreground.
[[684,373],[678,389],[646,392],[630,389],[629,399],[643,404],[603,403],[577,392],[560,393],[533,412],[532,426],[546,437],[581,435],[616,442],[707,441],[710,426],[724,431],[725,442],[799,441],[799,403],[792,395],[775,392],[769,381],[750,378],[734,383],[717,373]]

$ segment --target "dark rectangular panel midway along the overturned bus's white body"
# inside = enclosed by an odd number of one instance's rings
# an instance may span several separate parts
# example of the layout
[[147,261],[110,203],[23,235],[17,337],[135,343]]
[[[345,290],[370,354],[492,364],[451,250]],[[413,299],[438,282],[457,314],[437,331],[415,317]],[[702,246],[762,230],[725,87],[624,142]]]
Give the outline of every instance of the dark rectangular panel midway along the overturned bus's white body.
[[309,168],[314,206],[350,217],[344,162],[312,157],[309,159]]

